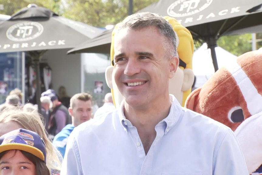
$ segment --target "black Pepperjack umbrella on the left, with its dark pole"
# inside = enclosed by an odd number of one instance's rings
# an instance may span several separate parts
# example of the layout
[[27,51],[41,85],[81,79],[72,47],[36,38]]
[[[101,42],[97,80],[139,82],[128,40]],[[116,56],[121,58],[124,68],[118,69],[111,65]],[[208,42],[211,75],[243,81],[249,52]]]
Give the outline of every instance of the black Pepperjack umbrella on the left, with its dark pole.
[[39,61],[46,50],[73,48],[104,30],[29,5],[0,23],[0,53],[29,51],[36,68],[36,99],[40,103]]

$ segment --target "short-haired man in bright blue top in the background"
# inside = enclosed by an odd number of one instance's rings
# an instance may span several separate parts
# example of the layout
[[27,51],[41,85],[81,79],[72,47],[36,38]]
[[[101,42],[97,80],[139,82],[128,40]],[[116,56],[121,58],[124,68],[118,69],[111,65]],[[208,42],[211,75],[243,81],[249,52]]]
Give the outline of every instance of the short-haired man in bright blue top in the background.
[[53,145],[64,157],[67,139],[73,129],[92,117],[92,96],[88,93],[75,94],[70,99],[68,112],[72,117],[72,124],[67,124],[53,139]]

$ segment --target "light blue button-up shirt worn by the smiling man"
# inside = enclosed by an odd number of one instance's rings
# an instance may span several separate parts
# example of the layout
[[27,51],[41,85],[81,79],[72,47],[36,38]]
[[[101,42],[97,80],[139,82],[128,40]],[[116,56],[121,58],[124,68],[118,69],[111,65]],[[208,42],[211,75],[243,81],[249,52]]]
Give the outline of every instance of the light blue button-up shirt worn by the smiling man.
[[233,131],[181,107],[172,96],[147,155],[119,110],[87,121],[69,136],[61,175],[248,175]]

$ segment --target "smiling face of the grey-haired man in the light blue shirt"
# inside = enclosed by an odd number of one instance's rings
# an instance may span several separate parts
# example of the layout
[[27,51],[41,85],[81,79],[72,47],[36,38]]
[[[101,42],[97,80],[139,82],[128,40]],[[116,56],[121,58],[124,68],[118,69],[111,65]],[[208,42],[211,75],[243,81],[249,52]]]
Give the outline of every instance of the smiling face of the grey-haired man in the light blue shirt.
[[163,37],[155,27],[124,29],[115,36],[114,80],[133,107],[142,107],[168,94],[168,81],[174,76],[171,69],[177,65],[171,64],[171,58],[165,58],[162,43]]

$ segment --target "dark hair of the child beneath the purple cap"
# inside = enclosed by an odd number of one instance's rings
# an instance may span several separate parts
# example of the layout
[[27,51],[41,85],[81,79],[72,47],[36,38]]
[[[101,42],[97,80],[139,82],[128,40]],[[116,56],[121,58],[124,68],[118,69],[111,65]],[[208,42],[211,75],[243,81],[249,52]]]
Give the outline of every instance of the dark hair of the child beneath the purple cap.
[[[12,150],[1,152],[0,159],[9,151]],[[16,154],[16,151],[18,150],[15,150],[14,155]],[[38,157],[34,156],[29,152],[25,152],[25,151],[21,151],[21,152],[27,159],[29,159],[36,166],[36,175],[50,175],[50,171],[48,170],[46,163],[43,160],[39,159]]]

